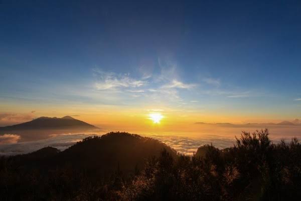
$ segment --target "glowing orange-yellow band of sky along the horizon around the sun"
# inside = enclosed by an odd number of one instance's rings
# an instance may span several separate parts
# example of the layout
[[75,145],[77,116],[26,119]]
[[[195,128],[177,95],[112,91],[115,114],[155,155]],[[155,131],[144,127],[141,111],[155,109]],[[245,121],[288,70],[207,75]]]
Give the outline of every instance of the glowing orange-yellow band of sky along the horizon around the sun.
[[[241,116],[239,113],[228,113],[227,111],[209,112],[209,111],[191,111],[185,109],[171,109],[167,107],[145,107],[144,109],[124,108],[119,106],[15,106],[2,105],[0,109],[10,106],[9,112],[4,113],[8,118],[0,120],[1,126],[13,125],[30,121],[41,116],[46,117],[64,117],[73,116],[73,118],[82,120],[95,125],[106,131],[126,131],[134,133],[200,133],[200,127],[194,123],[278,123],[284,119],[276,116],[263,116],[260,118],[256,114]],[[35,110],[34,110],[35,108]],[[31,111],[31,112],[29,112]],[[159,124],[149,119],[150,113],[158,113],[163,116]],[[12,114],[9,116],[9,114]],[[206,130],[205,130],[206,131]],[[204,132],[204,131],[203,131]],[[212,133],[213,131],[211,131]],[[222,131],[220,131],[222,132]]]

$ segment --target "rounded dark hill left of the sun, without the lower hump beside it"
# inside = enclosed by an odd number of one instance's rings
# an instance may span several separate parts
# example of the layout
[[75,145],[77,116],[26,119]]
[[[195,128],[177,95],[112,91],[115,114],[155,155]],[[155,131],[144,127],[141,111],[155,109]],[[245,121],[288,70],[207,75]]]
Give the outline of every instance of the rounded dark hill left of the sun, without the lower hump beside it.
[[[101,177],[108,177],[117,166],[125,175],[142,169],[145,160],[158,157],[163,149],[173,157],[176,151],[152,138],[128,133],[108,133],[101,137],[89,137],[59,153],[53,163],[94,170]],[[89,173],[89,172],[88,172]]]

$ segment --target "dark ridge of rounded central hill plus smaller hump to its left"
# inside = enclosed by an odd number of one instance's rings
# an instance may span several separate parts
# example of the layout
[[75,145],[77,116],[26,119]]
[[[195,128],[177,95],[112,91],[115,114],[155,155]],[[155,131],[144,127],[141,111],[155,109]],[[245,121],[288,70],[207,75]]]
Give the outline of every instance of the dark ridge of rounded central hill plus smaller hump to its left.
[[[83,139],[60,152],[53,147],[13,156],[18,167],[25,169],[54,169],[72,166],[76,171],[86,169],[95,178],[108,178],[119,165],[124,175],[134,172],[135,167],[142,169],[146,159],[158,157],[166,149],[172,157],[177,153],[166,144],[147,137],[124,132],[111,132],[101,137]],[[34,165],[29,162],[34,161]]]

